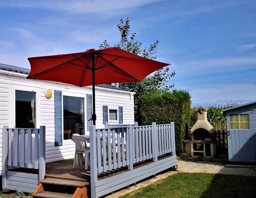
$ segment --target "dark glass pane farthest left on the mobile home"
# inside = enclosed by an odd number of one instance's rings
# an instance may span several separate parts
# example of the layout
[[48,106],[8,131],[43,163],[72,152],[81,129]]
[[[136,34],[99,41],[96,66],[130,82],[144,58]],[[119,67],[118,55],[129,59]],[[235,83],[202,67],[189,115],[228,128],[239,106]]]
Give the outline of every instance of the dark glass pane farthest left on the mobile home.
[[15,127],[35,128],[35,92],[15,90]]

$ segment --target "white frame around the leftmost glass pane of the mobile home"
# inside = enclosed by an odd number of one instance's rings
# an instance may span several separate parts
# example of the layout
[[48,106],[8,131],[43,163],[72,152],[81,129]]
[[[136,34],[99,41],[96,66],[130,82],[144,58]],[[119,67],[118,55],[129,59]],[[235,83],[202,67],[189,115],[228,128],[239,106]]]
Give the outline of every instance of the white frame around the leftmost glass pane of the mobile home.
[[16,123],[16,115],[15,115],[15,91],[29,91],[35,93],[35,128],[40,127],[40,88],[39,87],[29,87],[29,86],[22,86],[22,85],[10,85],[10,104],[9,104],[9,127],[15,128]]

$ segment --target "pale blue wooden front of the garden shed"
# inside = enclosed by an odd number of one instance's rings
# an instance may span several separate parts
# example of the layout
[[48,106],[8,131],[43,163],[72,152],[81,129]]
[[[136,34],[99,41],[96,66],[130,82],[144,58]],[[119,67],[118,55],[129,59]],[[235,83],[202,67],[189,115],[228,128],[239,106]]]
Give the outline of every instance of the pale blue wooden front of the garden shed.
[[256,133],[253,131],[251,111],[246,113],[249,119],[249,129],[232,129],[232,125],[233,128],[239,128],[239,125],[232,123],[231,113],[229,117],[230,122],[227,122],[229,123],[227,132],[228,160],[232,162],[256,162]]

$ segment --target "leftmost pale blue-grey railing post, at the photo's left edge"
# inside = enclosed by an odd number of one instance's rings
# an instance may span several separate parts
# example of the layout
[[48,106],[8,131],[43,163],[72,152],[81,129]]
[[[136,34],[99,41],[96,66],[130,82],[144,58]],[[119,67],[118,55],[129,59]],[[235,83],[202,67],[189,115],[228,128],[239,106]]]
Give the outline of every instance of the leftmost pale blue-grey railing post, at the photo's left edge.
[[2,189],[6,189],[6,170],[7,170],[7,151],[8,151],[8,139],[7,139],[8,126],[2,127]]

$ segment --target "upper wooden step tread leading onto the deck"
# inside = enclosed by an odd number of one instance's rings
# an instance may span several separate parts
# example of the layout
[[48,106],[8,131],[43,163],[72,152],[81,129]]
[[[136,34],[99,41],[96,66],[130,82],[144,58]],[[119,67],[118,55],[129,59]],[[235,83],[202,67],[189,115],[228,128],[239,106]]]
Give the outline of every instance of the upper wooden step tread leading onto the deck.
[[44,180],[40,180],[39,183],[61,185],[61,186],[72,186],[72,187],[85,187],[89,185],[88,182],[75,181],[75,180],[62,180],[62,179],[56,179],[56,178],[45,178]]

